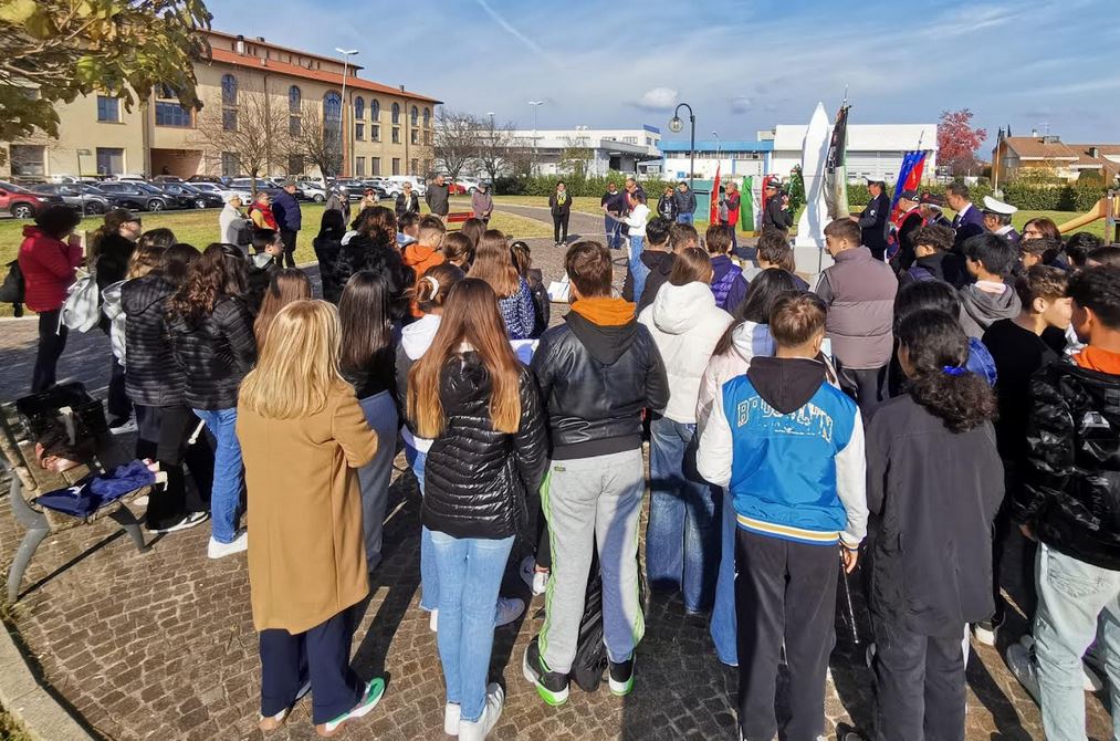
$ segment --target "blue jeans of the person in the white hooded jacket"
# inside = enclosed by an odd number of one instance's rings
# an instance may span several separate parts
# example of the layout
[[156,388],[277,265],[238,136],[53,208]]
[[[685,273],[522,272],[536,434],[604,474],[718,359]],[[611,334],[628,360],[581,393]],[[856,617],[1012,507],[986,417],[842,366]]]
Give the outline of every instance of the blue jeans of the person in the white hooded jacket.
[[696,473],[696,425],[655,417],[650,425],[650,524],[645,571],[653,589],[680,586],[684,609],[711,604],[719,569],[719,490]]

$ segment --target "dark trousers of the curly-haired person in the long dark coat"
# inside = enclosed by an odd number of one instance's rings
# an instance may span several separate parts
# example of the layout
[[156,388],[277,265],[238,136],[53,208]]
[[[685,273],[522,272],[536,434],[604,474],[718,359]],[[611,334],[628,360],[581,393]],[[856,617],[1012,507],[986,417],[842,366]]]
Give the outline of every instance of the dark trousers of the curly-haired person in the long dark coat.
[[935,638],[872,615],[877,741],[964,741],[964,626]]

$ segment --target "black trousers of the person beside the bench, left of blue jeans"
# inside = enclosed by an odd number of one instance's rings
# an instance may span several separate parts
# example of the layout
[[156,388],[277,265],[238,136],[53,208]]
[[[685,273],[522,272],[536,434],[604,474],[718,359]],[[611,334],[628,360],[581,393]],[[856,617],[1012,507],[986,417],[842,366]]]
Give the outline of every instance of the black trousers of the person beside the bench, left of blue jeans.
[[[167,485],[156,489],[148,498],[144,524],[158,530],[175,525],[188,512],[209,511],[211,488],[214,485],[214,451],[205,432],[194,445],[190,436],[199,419],[189,407],[148,407],[137,409],[137,457],[159,461],[167,472]],[[186,485],[183,464],[190,469],[195,485]]]

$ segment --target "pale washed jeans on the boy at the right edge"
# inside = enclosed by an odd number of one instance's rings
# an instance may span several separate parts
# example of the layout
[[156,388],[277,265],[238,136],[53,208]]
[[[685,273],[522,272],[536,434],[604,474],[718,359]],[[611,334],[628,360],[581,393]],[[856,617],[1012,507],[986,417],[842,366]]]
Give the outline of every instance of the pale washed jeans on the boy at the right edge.
[[1036,573],[1035,656],[1046,738],[1085,739],[1081,658],[1096,637],[1102,612],[1112,735],[1120,738],[1120,572],[1086,564],[1042,544]]

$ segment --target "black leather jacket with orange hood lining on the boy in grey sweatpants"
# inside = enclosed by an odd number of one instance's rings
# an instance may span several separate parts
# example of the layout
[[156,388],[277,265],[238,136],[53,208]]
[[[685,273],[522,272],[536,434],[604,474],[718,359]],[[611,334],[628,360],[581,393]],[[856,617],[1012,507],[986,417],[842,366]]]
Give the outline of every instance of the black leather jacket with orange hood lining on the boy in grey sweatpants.
[[636,319],[601,326],[576,312],[541,336],[533,373],[549,415],[552,459],[642,447],[642,410],[669,404],[665,365]]

